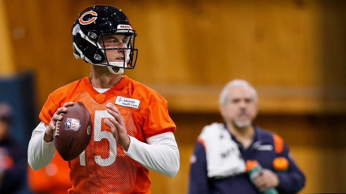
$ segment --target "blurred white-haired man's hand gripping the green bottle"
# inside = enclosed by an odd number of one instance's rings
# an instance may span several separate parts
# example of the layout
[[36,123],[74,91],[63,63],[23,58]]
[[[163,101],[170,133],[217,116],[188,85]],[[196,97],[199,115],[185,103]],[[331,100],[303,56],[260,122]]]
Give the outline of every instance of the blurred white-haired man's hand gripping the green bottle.
[[269,187],[279,185],[279,177],[269,169],[262,169],[262,172],[255,178],[254,183],[258,190],[264,192]]

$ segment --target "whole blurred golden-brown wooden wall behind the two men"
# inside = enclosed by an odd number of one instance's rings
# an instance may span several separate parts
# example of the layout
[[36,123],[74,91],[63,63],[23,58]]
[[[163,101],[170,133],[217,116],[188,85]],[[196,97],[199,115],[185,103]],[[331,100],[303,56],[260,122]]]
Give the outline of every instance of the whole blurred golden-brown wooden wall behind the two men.
[[53,90],[89,75],[72,54],[78,13],[111,4],[131,19],[138,61],[125,74],[168,100],[181,154],[175,177],[151,173],[152,193],[186,193],[195,140],[222,122],[218,96],[235,78],[258,90],[256,123],[281,135],[305,172],[300,193],[346,192],[346,1],[0,2],[1,74],[35,73],[37,112]]

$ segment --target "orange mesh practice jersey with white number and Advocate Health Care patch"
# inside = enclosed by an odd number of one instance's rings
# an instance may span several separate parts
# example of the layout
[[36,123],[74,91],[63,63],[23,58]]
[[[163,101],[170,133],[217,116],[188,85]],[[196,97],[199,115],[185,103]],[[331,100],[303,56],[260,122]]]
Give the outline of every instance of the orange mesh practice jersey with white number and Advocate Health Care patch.
[[69,193],[150,193],[149,170],[124,153],[103,119],[111,117],[106,104],[115,103],[125,120],[127,133],[145,142],[148,137],[175,132],[167,101],[127,76],[103,94],[99,94],[86,77],[51,93],[39,118],[48,124],[56,109],[68,101],[83,102],[94,126],[88,147],[69,162],[73,183]]

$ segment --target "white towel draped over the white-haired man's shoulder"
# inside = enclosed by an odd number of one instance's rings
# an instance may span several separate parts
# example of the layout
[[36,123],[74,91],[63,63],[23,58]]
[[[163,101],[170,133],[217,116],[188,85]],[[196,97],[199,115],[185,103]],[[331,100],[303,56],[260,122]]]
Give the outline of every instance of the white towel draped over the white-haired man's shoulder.
[[212,123],[198,137],[206,148],[208,177],[223,178],[245,172],[239,148],[222,123]]

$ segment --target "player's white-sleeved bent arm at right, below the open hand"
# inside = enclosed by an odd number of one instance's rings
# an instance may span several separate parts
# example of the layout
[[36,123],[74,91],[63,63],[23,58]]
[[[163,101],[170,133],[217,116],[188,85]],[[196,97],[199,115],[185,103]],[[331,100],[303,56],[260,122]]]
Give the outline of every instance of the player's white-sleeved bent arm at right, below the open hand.
[[126,154],[153,171],[173,177],[179,171],[179,149],[173,133],[164,133],[148,138],[146,143],[130,137]]

